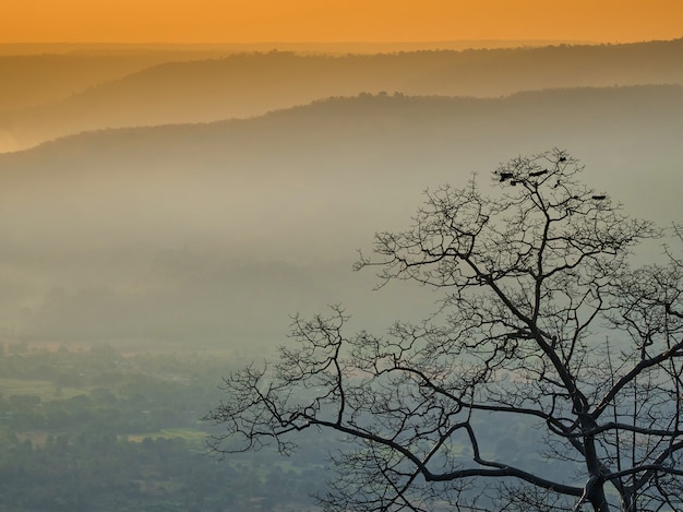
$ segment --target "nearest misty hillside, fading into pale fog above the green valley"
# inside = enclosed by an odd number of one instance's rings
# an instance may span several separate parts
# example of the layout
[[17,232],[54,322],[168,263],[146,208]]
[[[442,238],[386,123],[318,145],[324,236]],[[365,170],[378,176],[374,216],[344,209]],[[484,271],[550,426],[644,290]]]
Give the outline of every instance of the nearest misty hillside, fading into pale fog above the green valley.
[[[400,310],[393,291],[363,309],[350,262],[375,230],[405,227],[424,188],[471,171],[486,188],[498,163],[560,146],[628,213],[680,221],[681,133],[683,88],[634,86],[361,95],[65,138],[0,155],[0,305],[26,308],[34,336],[73,337],[83,322],[91,338],[264,340],[337,300],[382,323],[433,299],[411,291]],[[52,286],[59,307],[43,299]]]

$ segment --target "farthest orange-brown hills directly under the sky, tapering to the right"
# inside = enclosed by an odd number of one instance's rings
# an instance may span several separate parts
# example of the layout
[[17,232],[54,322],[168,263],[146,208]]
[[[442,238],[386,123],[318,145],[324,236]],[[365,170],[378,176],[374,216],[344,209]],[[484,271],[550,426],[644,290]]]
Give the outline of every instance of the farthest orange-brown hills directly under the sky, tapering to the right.
[[[404,44],[0,44],[0,112],[58,103],[86,90],[112,82],[168,62],[218,61],[226,66],[239,63],[226,59],[235,55],[256,57],[274,50],[301,56],[336,56],[349,53],[397,53],[403,51],[466,50],[481,48],[520,48],[559,45],[561,41],[470,40]],[[577,43],[573,43],[577,44]],[[445,55],[445,53],[444,53]],[[273,55],[271,55],[272,57]],[[307,59],[313,63],[320,59]],[[265,59],[275,61],[276,59]],[[205,62],[206,64],[207,62]],[[207,70],[208,71],[208,70]],[[211,75],[211,73],[206,73]],[[181,75],[182,78],[182,75]],[[163,88],[168,84],[159,84]]]

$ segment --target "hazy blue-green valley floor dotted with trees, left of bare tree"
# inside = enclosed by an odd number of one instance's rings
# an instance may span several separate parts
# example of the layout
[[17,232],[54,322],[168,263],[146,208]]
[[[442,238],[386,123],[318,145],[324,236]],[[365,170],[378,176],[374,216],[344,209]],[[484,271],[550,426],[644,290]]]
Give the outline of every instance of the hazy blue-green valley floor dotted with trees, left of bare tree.
[[224,357],[0,346],[0,511],[307,510],[324,487],[322,437],[296,461],[207,454]]

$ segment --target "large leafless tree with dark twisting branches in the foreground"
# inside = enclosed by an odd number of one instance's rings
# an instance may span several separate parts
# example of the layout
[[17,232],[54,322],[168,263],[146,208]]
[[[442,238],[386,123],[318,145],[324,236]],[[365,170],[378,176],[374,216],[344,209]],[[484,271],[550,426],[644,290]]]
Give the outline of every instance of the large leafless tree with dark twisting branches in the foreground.
[[[357,269],[442,290],[434,315],[383,336],[347,333],[339,307],[296,317],[295,347],[225,379],[213,449],[345,434],[329,511],[681,510],[683,269],[672,251],[632,269],[662,233],[582,170],[553,150],[502,165],[490,194],[427,192]],[[549,469],[504,459],[492,421],[526,426]]]

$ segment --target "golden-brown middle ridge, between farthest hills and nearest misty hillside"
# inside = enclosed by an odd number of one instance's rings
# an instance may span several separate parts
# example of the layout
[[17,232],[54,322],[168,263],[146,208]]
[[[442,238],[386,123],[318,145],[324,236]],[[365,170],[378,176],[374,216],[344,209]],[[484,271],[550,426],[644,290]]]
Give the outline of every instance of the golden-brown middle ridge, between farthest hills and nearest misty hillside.
[[[245,118],[362,92],[495,97],[576,86],[683,83],[683,39],[382,55],[240,53],[166,62],[52,105],[0,114],[0,145],[107,127]],[[1,150],[1,147],[0,147]]]

